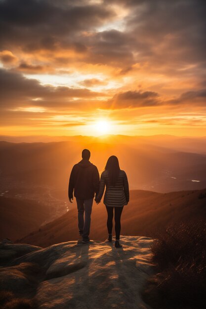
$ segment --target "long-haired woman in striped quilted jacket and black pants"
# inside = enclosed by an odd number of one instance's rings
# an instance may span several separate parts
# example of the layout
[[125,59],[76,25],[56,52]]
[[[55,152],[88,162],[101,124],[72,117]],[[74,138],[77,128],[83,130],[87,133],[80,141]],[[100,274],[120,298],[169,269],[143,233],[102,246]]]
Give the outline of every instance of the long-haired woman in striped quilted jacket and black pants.
[[116,241],[115,247],[122,247],[120,243],[120,231],[121,231],[121,215],[124,205],[129,201],[129,186],[126,177],[126,173],[120,169],[118,158],[115,155],[109,157],[105,170],[101,174],[99,193],[97,194],[95,201],[100,203],[104,188],[106,185],[106,191],[104,195],[104,204],[107,209],[107,229],[108,229],[108,241],[112,241],[112,227],[113,227],[113,214],[115,209],[115,232]]

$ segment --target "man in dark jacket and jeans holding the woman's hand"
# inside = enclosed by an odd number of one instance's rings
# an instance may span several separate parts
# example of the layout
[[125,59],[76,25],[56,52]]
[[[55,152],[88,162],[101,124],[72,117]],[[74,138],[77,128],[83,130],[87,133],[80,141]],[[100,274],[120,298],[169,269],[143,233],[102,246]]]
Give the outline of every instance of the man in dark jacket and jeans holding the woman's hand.
[[[99,172],[95,165],[90,161],[90,151],[82,151],[82,160],[73,166],[69,179],[69,201],[72,203],[73,191],[77,200],[78,208],[78,227],[82,242],[89,242],[89,230],[91,222],[91,209],[94,193],[99,192]],[[85,220],[84,220],[85,211]]]

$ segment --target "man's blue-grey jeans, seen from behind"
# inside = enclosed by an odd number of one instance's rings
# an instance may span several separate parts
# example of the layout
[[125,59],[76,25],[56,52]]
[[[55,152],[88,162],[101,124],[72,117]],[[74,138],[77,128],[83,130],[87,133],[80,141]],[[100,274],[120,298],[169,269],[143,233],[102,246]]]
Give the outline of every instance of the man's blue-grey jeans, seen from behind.
[[[89,230],[91,223],[91,209],[93,204],[93,198],[81,199],[76,198],[77,208],[78,208],[78,227],[79,232],[83,233],[83,239],[89,239]],[[83,213],[85,211],[85,220],[83,218]]]

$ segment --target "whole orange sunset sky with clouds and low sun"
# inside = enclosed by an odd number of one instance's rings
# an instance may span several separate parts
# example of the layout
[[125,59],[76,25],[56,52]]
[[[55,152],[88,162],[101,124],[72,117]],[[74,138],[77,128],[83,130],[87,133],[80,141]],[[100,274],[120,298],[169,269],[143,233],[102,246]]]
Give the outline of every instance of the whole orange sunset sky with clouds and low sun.
[[0,0],[1,135],[206,135],[202,0]]

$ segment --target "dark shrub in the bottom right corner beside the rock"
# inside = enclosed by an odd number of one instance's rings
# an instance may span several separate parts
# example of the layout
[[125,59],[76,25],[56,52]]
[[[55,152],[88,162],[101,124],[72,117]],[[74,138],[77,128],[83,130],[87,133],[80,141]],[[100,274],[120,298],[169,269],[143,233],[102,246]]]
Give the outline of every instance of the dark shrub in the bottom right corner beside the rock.
[[182,223],[156,235],[151,246],[157,274],[143,298],[153,308],[204,309],[206,304],[206,223]]

